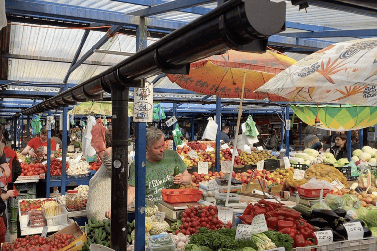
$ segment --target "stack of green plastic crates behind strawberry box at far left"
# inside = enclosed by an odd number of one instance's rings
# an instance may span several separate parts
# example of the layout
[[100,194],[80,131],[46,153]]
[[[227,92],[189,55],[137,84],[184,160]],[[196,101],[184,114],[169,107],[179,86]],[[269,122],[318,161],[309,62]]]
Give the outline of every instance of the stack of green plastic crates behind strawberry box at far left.
[[19,195],[10,199],[10,233],[17,233],[18,201],[37,198],[37,183],[20,183],[15,186]]

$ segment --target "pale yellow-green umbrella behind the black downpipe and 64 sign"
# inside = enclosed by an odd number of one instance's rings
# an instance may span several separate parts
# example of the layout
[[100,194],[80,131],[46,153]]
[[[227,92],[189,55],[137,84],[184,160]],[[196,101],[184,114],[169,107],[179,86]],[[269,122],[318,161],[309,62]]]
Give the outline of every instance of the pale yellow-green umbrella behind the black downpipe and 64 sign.
[[[128,103],[128,116],[133,116],[134,104]],[[70,110],[68,114],[72,115]],[[75,108],[75,115],[107,115],[112,116],[111,101],[88,101],[81,103]]]

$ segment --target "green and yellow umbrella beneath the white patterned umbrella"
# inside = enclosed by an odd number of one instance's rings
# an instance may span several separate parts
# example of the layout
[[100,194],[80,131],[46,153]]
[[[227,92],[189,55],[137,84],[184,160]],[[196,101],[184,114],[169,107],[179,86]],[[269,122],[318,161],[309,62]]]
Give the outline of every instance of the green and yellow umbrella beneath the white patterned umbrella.
[[[349,131],[377,124],[376,106],[359,105],[290,105],[295,114],[306,124],[313,125],[320,118],[320,129]],[[318,110],[318,112],[317,112]]]

